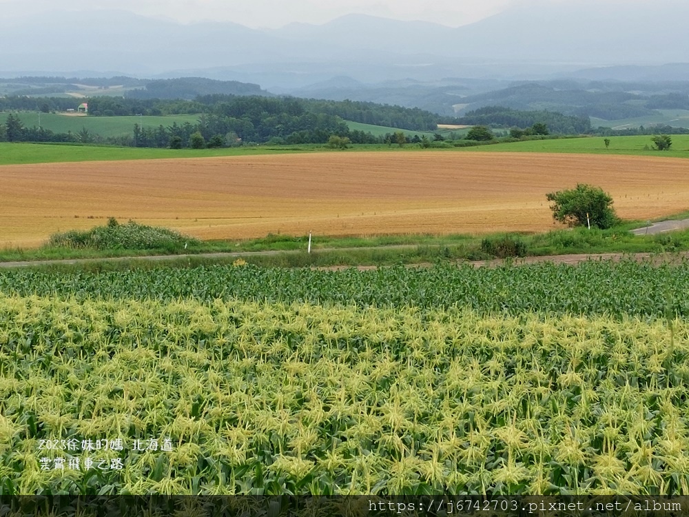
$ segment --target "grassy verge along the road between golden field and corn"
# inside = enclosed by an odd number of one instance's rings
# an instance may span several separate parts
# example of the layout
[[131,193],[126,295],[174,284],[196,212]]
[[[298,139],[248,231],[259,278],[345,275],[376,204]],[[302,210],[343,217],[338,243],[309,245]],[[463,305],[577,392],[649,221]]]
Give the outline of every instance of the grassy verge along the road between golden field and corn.
[[[681,216],[683,214],[679,214]],[[0,262],[48,261],[65,259],[106,259],[115,257],[143,257],[161,255],[199,255],[207,253],[292,252],[289,254],[247,255],[242,258],[260,265],[327,266],[327,265],[388,265],[418,263],[439,259],[484,260],[495,258],[489,243],[504,239],[524,244],[526,256],[588,253],[663,253],[689,250],[689,229],[657,235],[635,236],[628,230],[642,223],[626,223],[610,230],[555,230],[545,234],[471,235],[401,235],[376,237],[318,237],[312,241],[311,255],[307,254],[308,236],[269,235],[251,241],[205,241],[189,243],[187,247],[154,247],[142,250],[72,249],[43,246],[37,249],[6,249],[0,252]],[[234,261],[237,256],[229,256]],[[500,257],[502,258],[502,257]],[[212,261],[220,261],[214,257]]]

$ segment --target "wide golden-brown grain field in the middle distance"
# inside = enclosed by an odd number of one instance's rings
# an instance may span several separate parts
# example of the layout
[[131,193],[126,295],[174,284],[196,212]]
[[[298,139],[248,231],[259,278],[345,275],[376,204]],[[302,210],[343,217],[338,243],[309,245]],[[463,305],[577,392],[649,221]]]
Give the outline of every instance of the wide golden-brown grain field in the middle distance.
[[553,228],[546,193],[610,192],[621,217],[689,207],[689,162],[594,154],[331,152],[0,167],[0,245],[121,221],[202,239],[269,233],[482,233]]

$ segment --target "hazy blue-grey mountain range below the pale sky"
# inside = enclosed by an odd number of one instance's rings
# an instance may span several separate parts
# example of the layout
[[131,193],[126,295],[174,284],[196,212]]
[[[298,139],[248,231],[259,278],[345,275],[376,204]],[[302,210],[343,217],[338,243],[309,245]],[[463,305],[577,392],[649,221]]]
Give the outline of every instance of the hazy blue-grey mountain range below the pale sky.
[[[191,75],[258,83],[276,92],[342,76],[362,83],[553,74],[598,79],[601,73],[630,80],[644,75],[630,65],[688,59],[688,19],[689,3],[676,0],[528,3],[460,28],[353,14],[322,26],[254,30],[123,11],[56,10],[0,19],[0,71]],[[604,65],[621,66],[601,72]],[[664,72],[689,80],[686,66]]]

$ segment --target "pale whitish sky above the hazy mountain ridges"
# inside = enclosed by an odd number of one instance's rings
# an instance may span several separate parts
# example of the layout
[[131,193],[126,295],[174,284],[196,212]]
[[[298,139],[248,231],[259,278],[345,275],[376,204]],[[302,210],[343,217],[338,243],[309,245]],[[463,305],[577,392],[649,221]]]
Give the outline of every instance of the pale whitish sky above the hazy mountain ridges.
[[523,1],[529,0],[0,0],[0,11],[3,17],[19,17],[50,10],[117,9],[183,23],[233,21],[251,28],[320,24],[359,13],[458,27]]

